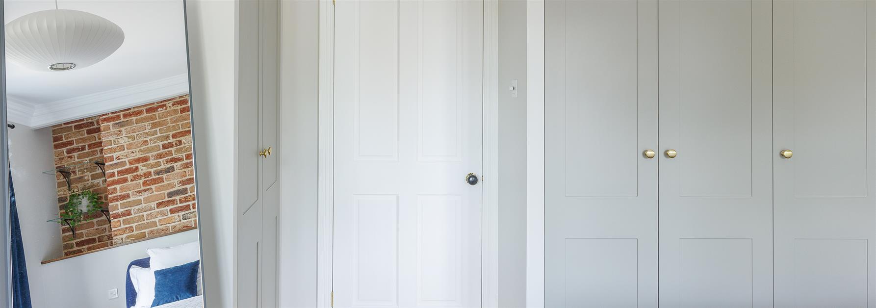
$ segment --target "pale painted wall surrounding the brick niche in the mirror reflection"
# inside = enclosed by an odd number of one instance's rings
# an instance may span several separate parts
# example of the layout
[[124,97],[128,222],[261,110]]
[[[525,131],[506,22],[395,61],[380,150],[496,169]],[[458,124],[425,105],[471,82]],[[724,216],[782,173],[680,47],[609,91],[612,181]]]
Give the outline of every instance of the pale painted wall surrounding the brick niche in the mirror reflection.
[[[33,307],[124,307],[128,263],[146,257],[146,248],[198,240],[192,230],[40,264],[62,255],[60,227],[46,222],[58,217],[55,177],[42,173],[54,168],[52,129],[17,125],[9,130],[9,148]],[[117,298],[109,299],[110,289],[117,289]]]

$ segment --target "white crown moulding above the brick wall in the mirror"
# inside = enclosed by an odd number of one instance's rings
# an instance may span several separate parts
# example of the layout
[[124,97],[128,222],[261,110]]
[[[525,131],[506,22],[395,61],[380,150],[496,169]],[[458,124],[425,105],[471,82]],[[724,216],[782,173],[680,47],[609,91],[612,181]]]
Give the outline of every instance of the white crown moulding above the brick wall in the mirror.
[[55,102],[30,104],[8,99],[9,121],[33,130],[88,116],[139,106],[148,102],[188,93],[188,74],[183,73],[158,81],[117,88],[90,95],[81,95]]

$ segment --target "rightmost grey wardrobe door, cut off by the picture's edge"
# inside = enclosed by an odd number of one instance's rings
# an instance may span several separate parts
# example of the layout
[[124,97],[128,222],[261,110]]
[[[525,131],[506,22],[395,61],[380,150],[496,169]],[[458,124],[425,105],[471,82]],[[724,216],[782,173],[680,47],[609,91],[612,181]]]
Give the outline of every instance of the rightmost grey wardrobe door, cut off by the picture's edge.
[[876,306],[874,10],[774,2],[776,307]]

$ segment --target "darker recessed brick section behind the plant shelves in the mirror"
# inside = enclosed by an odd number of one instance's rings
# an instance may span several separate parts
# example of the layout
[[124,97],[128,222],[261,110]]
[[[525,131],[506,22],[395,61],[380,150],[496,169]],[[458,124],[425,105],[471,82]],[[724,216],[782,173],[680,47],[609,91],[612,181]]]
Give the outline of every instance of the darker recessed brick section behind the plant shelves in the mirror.
[[[89,162],[103,160],[103,143],[101,128],[98,124],[98,116],[70,121],[54,125],[52,127],[52,141],[54,145],[55,167],[60,168],[71,165],[82,167],[71,168],[73,173],[70,178],[73,191],[90,189],[107,201],[107,186],[104,184],[103,173],[97,165]],[[67,203],[67,196],[72,193],[67,189],[67,181],[55,172],[58,180],[58,209],[63,210]],[[86,221],[76,227],[76,237],[67,225],[61,227],[61,242],[64,255],[74,255],[110,245],[112,236],[109,231],[109,222],[100,213],[93,214]]]

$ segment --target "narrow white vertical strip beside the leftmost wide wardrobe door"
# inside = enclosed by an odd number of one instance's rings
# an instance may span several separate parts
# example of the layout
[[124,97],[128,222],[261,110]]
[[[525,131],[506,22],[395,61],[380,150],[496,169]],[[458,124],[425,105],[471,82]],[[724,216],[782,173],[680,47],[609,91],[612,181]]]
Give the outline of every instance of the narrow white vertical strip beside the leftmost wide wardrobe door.
[[526,1],[526,307],[545,306],[545,1]]

